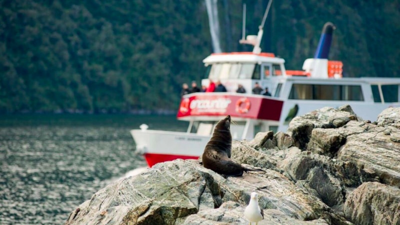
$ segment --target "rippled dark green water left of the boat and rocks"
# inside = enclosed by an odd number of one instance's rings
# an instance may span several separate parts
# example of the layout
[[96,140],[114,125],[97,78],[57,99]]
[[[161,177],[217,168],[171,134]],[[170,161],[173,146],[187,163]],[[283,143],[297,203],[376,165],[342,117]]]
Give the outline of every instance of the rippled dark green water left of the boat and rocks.
[[63,224],[69,212],[146,166],[130,129],[184,131],[174,116],[0,115],[0,224]]

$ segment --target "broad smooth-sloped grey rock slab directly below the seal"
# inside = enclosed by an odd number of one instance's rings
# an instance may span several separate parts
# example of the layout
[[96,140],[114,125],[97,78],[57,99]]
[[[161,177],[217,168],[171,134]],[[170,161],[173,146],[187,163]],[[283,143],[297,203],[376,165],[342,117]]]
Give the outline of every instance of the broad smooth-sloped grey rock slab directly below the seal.
[[[292,221],[316,220],[329,211],[316,197],[275,171],[225,179],[197,161],[175,160],[100,190],[78,207],[77,214],[76,210],[71,213],[67,224],[195,224],[190,220],[242,223],[243,207],[255,190],[262,194],[262,209],[275,209],[282,218]],[[221,208],[227,202],[236,204]],[[236,208],[241,213],[228,216],[227,211]],[[197,216],[186,218],[192,214]]]

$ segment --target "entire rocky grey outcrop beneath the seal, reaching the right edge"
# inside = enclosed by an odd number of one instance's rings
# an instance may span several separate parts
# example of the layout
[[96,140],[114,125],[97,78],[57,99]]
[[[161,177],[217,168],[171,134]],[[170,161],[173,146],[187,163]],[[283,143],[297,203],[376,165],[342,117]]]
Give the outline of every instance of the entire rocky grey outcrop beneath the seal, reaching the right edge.
[[232,144],[232,160],[265,172],[224,178],[196,160],[160,163],[98,191],[66,224],[400,224],[400,108],[363,121],[349,106],[322,108]]

